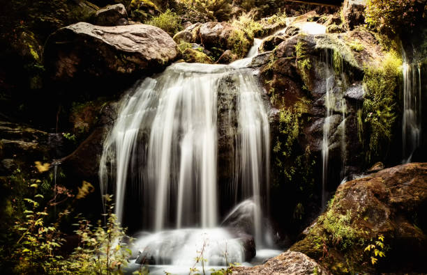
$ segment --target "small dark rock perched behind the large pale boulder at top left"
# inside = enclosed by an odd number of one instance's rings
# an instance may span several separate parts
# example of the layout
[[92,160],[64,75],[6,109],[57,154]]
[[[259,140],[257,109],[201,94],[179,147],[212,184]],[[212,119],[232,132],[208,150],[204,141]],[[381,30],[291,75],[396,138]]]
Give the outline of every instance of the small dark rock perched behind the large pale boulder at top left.
[[122,3],[106,6],[93,15],[93,24],[98,26],[123,26],[123,20],[127,19],[128,13]]

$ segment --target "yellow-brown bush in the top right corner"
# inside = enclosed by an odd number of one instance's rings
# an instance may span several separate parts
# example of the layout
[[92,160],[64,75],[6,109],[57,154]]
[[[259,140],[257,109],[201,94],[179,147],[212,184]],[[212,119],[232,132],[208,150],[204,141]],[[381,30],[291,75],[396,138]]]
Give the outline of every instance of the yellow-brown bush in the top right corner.
[[[371,29],[383,33],[400,33],[412,28],[422,17],[422,1],[413,0],[368,0],[365,21]],[[424,3],[425,4],[425,3]]]

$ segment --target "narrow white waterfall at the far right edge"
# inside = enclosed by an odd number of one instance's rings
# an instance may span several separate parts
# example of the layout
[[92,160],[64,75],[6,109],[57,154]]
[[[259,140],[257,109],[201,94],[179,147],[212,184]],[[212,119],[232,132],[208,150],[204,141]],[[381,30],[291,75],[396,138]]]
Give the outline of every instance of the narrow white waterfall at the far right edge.
[[421,146],[421,64],[410,63],[403,56],[403,163],[409,163]]

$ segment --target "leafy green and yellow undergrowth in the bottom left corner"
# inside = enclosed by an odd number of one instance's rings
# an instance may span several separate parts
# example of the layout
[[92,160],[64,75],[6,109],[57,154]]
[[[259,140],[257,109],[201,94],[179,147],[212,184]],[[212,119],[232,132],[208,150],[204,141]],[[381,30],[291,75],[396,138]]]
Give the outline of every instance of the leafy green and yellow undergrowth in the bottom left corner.
[[[40,162],[41,166],[41,162]],[[45,171],[43,171],[45,172]],[[45,175],[45,173],[43,174]],[[50,174],[52,175],[52,174]],[[59,178],[63,177],[59,173]],[[112,214],[112,205],[105,214],[105,225],[98,223],[92,228],[89,221],[77,221],[80,245],[69,258],[63,258],[61,246],[65,235],[61,223],[68,220],[73,210],[70,203],[87,196],[93,191],[89,182],[79,187],[77,195],[49,179],[27,180],[17,170],[10,178],[17,194],[13,202],[6,204],[3,223],[10,224],[6,233],[1,232],[0,269],[7,274],[113,274],[121,272],[130,251],[121,244],[125,236],[117,218]],[[31,198],[25,198],[32,194]],[[6,198],[8,201],[8,198]],[[70,200],[68,200],[70,201]],[[108,197],[107,201],[111,201]],[[2,209],[3,211],[3,209]],[[3,228],[1,228],[3,230]]]

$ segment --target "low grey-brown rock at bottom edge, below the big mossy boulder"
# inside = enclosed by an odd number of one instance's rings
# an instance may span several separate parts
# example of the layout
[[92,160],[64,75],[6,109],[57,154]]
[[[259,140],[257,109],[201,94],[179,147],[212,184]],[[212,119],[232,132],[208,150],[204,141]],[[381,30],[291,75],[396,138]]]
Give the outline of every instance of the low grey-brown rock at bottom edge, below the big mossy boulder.
[[264,265],[255,267],[233,267],[233,274],[237,275],[271,275],[271,274],[329,274],[315,260],[303,253],[286,251],[271,258]]

